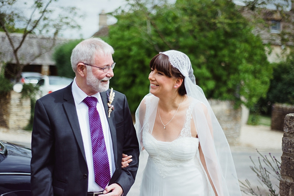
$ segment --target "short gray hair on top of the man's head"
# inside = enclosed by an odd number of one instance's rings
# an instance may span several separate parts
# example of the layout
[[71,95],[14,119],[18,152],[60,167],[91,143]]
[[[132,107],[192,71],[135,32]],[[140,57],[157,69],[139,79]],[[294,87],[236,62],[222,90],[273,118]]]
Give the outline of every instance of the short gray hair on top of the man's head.
[[113,53],[113,47],[100,38],[84,40],[73,48],[71,56],[73,71],[76,72],[76,65],[80,62],[90,65],[95,64],[95,55],[107,55]]

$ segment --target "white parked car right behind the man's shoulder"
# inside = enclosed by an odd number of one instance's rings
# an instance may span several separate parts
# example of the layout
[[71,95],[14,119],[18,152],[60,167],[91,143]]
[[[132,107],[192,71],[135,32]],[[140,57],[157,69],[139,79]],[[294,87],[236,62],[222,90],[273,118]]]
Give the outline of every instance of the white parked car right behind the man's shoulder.
[[60,76],[42,76],[37,85],[40,86],[40,96],[47,95],[55,90],[59,90],[71,84],[72,78]]

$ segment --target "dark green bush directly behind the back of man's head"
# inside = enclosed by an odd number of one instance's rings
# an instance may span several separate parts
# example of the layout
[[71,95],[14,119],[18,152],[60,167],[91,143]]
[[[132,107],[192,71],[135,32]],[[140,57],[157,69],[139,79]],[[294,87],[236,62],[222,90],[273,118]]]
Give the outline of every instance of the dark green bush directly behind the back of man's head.
[[73,48],[82,40],[73,40],[66,44],[59,46],[53,53],[53,59],[57,67],[57,73],[59,76],[73,78],[75,76],[72,64],[71,55]]

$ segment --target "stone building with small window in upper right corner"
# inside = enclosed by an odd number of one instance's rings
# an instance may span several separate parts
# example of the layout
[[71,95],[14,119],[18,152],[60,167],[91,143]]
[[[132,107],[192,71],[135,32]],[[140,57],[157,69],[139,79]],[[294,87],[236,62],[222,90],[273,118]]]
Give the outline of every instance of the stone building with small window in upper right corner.
[[[244,6],[238,6],[238,8],[254,26],[253,34],[259,35],[264,44],[270,44],[271,52],[268,54],[268,61],[277,63],[284,60],[290,52],[290,47],[294,45],[294,37],[284,35],[284,33],[290,33],[294,36],[294,3],[290,11],[284,10],[283,12],[266,8],[251,10]],[[284,42],[281,37],[282,32]]]

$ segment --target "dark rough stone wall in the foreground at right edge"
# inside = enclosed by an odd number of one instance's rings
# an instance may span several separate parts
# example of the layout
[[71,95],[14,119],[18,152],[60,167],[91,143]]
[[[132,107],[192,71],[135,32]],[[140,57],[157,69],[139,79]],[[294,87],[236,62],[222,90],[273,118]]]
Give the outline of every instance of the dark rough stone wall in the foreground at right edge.
[[294,196],[294,113],[285,117],[282,150],[280,196]]

